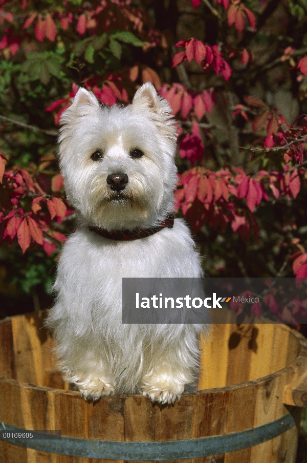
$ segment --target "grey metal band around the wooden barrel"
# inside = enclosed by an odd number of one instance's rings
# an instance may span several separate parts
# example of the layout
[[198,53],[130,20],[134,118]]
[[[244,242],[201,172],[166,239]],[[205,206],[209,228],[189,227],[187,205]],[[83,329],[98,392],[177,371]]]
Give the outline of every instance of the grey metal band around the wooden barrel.
[[[48,453],[86,458],[104,458],[114,460],[168,460],[198,458],[253,447],[273,439],[295,426],[295,417],[291,413],[266,425],[231,434],[202,437],[191,440],[169,440],[164,442],[131,442],[115,440],[80,439],[61,437],[58,440],[6,439],[2,440],[21,447]],[[0,429],[11,432],[25,432],[0,423]]]

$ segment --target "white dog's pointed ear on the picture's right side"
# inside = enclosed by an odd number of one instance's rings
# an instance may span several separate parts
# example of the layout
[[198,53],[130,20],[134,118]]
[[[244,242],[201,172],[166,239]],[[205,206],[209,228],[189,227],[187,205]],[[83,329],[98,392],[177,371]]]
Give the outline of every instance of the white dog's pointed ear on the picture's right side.
[[172,109],[168,101],[158,95],[152,83],[146,82],[137,90],[132,107],[137,111],[150,112],[152,119],[159,125],[161,124],[160,129],[168,132],[170,137],[176,138]]

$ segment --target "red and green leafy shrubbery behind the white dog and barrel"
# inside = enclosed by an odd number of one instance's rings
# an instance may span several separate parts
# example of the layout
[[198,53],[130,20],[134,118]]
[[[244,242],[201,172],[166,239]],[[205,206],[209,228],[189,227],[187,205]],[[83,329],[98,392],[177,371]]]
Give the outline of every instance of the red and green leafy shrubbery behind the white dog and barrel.
[[[79,86],[167,98],[178,216],[208,276],[306,277],[306,20],[306,0],[1,0],[0,317],[52,304],[75,226],[56,137]],[[285,310],[306,334],[307,301]]]

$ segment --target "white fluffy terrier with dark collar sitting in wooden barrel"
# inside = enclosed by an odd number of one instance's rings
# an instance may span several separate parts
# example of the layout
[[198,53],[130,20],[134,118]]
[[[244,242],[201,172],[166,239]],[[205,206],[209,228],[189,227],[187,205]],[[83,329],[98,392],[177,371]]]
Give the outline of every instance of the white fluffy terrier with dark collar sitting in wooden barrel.
[[150,82],[127,107],[80,88],[61,117],[60,170],[79,225],[64,244],[47,326],[65,379],[96,401],[143,393],[173,403],[194,381],[202,324],[123,324],[123,277],[201,277],[173,221],[176,126]]

